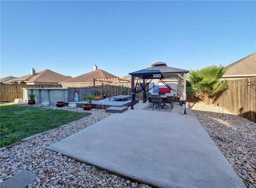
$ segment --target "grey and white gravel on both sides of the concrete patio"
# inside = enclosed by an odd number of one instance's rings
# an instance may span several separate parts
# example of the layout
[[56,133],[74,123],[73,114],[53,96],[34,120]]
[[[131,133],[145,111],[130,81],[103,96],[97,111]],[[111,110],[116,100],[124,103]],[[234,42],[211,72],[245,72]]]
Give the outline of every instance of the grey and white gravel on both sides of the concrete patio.
[[[70,110],[66,106],[44,108]],[[82,108],[72,110],[85,112]],[[238,175],[244,180],[246,186],[256,188],[256,123],[226,111],[222,117],[222,109],[215,106],[194,105],[192,111]],[[0,182],[23,169],[27,169],[38,176],[34,182],[27,186],[28,188],[150,188],[149,185],[124,179],[116,174],[70,159],[61,153],[46,150],[46,147],[52,143],[56,143],[112,114],[97,109],[92,109],[89,112],[92,115],[85,119],[1,151]]]

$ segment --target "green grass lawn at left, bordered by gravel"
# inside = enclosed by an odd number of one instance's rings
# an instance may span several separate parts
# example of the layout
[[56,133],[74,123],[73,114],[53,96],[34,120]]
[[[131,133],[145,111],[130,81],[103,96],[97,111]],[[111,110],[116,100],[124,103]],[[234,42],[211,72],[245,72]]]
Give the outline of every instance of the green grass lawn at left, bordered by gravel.
[[0,104],[0,147],[89,115],[85,112]]

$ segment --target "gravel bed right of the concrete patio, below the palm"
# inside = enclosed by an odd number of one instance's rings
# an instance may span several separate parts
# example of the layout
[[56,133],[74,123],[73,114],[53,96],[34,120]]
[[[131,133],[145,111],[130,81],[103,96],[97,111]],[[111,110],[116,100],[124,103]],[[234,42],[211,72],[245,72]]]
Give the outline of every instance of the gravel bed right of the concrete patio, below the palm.
[[196,104],[196,118],[249,188],[256,188],[256,123],[214,105]]

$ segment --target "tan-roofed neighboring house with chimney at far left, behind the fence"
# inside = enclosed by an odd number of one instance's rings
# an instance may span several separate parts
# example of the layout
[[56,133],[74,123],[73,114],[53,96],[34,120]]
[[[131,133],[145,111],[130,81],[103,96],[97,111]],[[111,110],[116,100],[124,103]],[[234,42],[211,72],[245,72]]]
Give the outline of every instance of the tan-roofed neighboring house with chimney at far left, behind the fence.
[[3,82],[4,84],[27,84],[27,85],[36,85],[36,84],[58,84],[63,80],[72,78],[71,76],[64,76],[57,72],[51,70],[44,70],[36,72],[35,69],[31,69],[31,74],[22,76],[19,78],[13,78],[8,81]]

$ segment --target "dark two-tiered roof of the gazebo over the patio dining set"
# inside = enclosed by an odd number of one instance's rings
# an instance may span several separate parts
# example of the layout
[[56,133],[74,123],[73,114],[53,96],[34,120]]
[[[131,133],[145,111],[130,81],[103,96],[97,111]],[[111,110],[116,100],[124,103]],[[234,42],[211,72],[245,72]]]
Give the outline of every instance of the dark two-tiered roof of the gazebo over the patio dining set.
[[142,79],[152,79],[152,78],[177,78],[177,74],[186,74],[188,70],[177,69],[173,67],[167,67],[167,64],[164,62],[154,62],[152,65],[146,69],[140,71],[131,72],[130,75],[133,75]]

